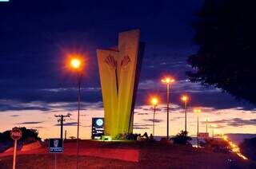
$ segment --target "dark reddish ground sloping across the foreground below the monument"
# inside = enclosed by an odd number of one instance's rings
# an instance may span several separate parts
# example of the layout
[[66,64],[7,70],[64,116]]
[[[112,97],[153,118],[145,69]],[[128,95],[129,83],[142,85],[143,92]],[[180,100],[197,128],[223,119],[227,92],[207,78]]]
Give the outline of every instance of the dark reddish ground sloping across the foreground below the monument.
[[[75,146],[75,143],[66,143]],[[126,162],[119,159],[103,159],[91,156],[79,157],[79,168],[256,168],[256,163],[239,159],[234,154],[222,154],[195,147],[175,144],[146,143],[146,142],[94,142],[82,140],[81,151],[86,148],[125,148],[138,149],[139,161]],[[74,147],[75,148],[75,147]],[[18,155],[18,169],[50,169],[54,168],[54,155],[44,150],[30,155]],[[58,155],[58,168],[75,168],[75,155],[68,155],[69,148],[64,154]],[[229,162],[231,159],[232,162]],[[0,155],[0,168],[8,169],[12,166],[12,156]]]

